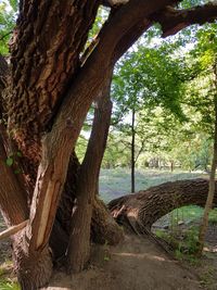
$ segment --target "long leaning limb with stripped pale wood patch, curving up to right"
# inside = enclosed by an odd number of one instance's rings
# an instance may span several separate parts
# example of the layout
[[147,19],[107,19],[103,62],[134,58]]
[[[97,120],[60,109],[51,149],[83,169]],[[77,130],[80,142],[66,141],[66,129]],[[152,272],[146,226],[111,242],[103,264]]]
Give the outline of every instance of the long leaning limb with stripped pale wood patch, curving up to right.
[[110,77],[112,56],[117,41],[138,22],[137,17],[142,18],[170,2],[174,1],[130,1],[111,15],[108,23],[102,29],[97,49],[68,91],[51,133],[43,138],[43,155],[31,203],[31,227],[28,232],[30,237],[37,237],[37,241],[33,239],[34,248],[43,247],[49,240],[72,149],[75,147],[91,102]]

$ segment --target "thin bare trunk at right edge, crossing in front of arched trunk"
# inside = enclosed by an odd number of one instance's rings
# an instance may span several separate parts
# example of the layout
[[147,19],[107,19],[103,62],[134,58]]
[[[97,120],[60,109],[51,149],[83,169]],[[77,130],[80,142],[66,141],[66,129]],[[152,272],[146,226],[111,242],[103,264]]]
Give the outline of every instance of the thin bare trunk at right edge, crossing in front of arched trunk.
[[216,167],[217,167],[217,60],[214,65],[214,108],[215,108],[215,126],[214,126],[214,151],[213,151],[213,161],[212,161],[212,169],[209,176],[209,187],[208,187],[208,196],[206,200],[206,205],[204,209],[204,215],[199,232],[199,250],[197,254],[202,255],[205,236],[208,227],[208,215],[212,210],[214,194],[215,194],[215,177],[216,177]]

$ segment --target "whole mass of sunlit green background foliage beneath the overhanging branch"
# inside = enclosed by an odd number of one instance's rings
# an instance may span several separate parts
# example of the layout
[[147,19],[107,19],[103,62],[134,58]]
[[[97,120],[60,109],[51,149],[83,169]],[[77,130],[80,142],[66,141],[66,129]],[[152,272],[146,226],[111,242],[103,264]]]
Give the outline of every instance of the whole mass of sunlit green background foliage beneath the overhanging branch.
[[[191,4],[182,2],[184,8]],[[216,35],[214,23],[154,46],[148,37],[120,60],[112,86],[113,127],[104,167],[129,165],[133,109],[138,166],[158,159],[166,166],[173,162],[189,171],[209,169]],[[188,48],[189,41],[193,46]]]

